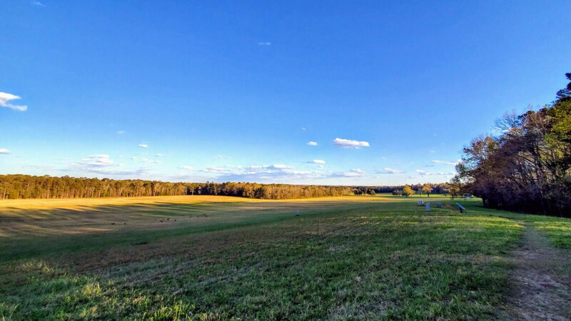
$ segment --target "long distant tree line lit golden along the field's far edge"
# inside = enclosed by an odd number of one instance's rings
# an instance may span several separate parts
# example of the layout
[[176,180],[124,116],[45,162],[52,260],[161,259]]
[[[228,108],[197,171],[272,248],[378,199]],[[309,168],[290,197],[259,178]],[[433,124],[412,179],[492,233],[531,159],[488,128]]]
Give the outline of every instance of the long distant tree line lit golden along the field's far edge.
[[[431,193],[448,193],[448,184],[431,184]],[[412,185],[422,194],[423,185]],[[323,196],[391,193],[403,186],[323,186],[258,183],[168,183],[157,180],[112,180],[0,175],[0,199],[15,198],[106,198],[161,195],[226,195],[282,200]]]

